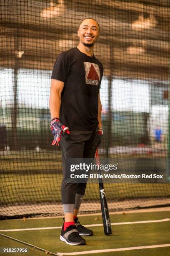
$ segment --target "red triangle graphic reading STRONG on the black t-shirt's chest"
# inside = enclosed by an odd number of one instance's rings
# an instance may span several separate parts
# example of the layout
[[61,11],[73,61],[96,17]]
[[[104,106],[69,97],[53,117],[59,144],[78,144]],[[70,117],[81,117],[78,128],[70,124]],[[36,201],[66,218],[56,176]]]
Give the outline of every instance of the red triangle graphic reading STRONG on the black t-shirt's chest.
[[98,85],[100,81],[100,69],[95,63],[84,62],[85,66],[85,83]]

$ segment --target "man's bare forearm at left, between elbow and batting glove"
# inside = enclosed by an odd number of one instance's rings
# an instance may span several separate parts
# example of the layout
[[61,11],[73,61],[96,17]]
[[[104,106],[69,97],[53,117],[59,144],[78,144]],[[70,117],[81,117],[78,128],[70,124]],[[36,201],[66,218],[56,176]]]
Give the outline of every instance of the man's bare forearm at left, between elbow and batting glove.
[[60,105],[61,105],[61,95],[59,92],[52,92],[50,94],[50,113],[51,118],[60,117]]

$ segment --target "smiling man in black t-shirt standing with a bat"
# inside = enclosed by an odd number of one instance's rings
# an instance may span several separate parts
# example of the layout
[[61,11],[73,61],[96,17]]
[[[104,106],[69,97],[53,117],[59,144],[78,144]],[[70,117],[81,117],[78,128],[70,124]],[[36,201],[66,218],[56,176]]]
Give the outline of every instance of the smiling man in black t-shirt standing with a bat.
[[[77,218],[86,183],[67,183],[65,162],[68,158],[94,158],[102,135],[100,84],[103,66],[94,54],[99,37],[96,20],[82,20],[77,31],[79,45],[62,52],[52,72],[50,91],[52,145],[62,149],[61,184],[65,222],[60,240],[70,245],[85,244],[81,236],[92,236]],[[67,136],[70,139],[67,139]]]

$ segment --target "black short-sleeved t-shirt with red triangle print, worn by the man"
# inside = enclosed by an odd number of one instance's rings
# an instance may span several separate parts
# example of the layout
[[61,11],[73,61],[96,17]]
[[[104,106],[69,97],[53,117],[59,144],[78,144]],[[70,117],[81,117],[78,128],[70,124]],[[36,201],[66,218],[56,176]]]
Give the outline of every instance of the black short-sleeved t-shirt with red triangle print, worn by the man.
[[65,83],[60,120],[70,130],[90,131],[98,125],[98,94],[103,66],[77,47],[62,52],[55,61],[52,79]]

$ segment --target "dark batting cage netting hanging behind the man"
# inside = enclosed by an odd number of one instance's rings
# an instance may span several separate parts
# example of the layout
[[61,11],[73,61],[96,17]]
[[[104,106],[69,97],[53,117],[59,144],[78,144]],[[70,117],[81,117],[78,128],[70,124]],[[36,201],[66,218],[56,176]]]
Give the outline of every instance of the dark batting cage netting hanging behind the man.
[[[1,0],[0,13],[1,218],[62,214],[50,77],[87,17],[100,24],[94,54],[104,66],[100,157],[164,175],[162,183],[105,184],[109,208],[170,205],[169,1]],[[100,211],[98,200],[98,185],[88,184],[80,212]]]

